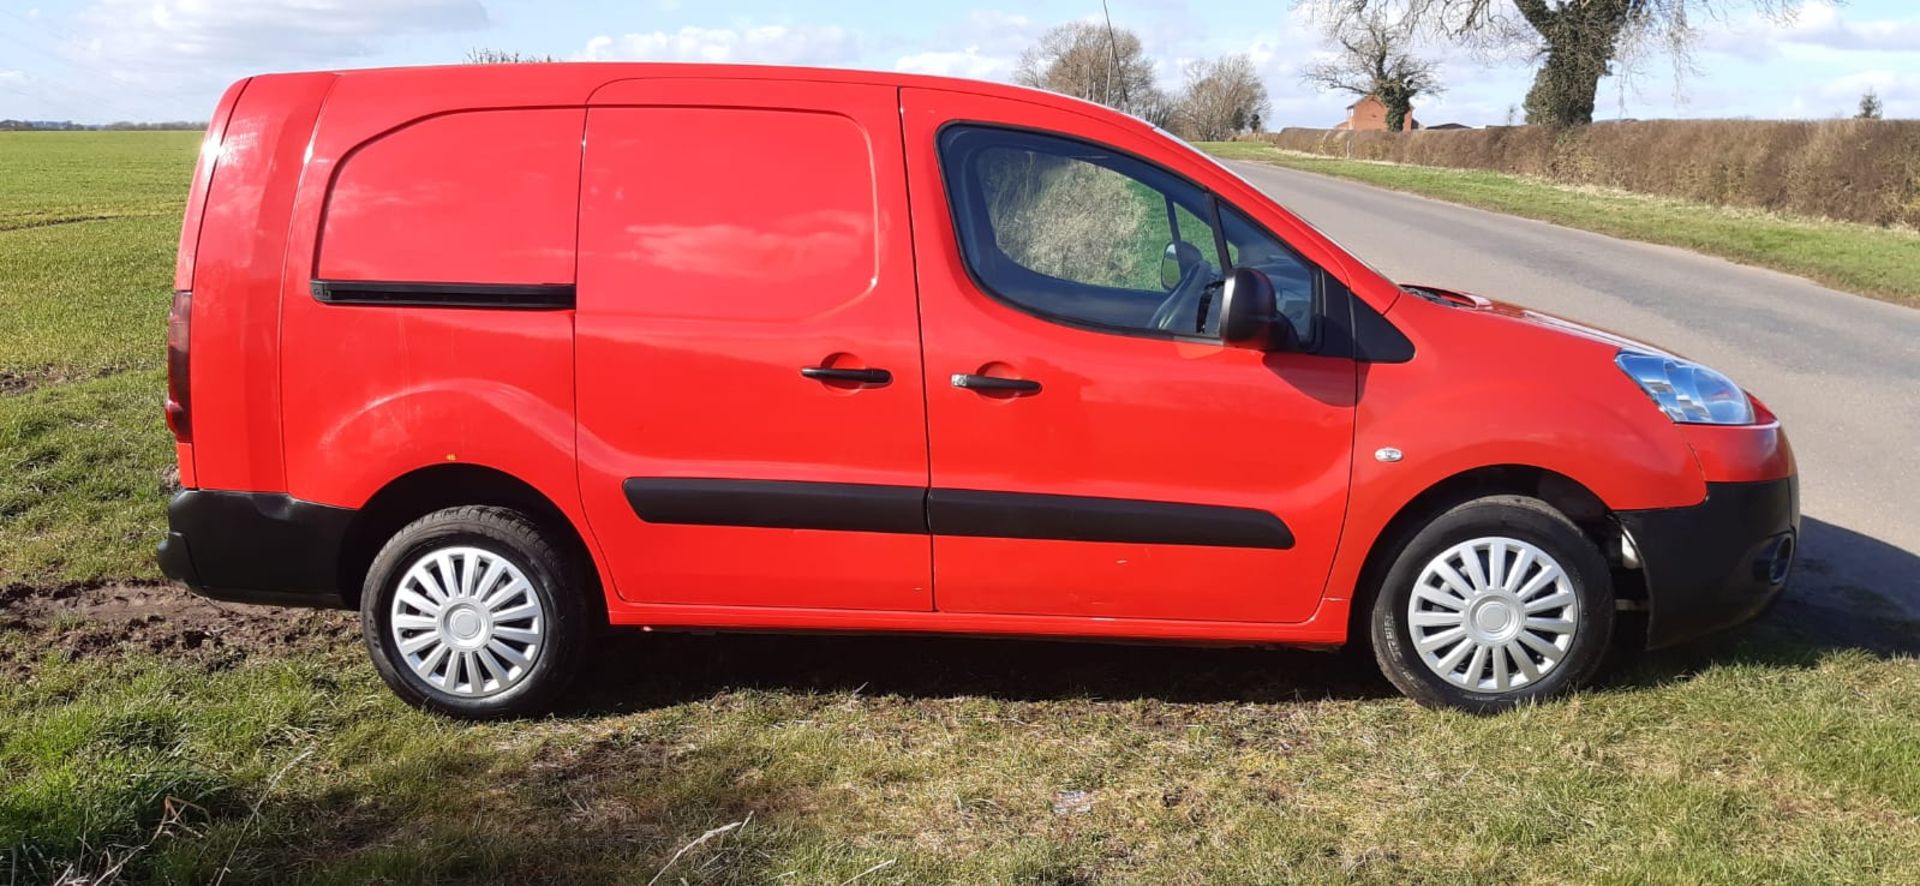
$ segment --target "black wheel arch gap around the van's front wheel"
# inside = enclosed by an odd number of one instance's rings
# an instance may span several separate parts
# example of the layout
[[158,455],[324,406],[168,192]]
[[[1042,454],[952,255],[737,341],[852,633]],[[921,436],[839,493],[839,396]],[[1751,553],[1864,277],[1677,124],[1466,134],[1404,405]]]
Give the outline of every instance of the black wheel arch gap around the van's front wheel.
[[[1367,646],[1373,600],[1400,550],[1434,517],[1486,496],[1524,496],[1546,502],[1574,527],[1580,527],[1580,532],[1607,555],[1609,563],[1615,559],[1611,552],[1617,544],[1619,525],[1613,519],[1613,509],[1580,480],[1534,465],[1484,465],[1461,471],[1407,500],[1375,534],[1348,605],[1348,644]],[[1615,569],[1615,592],[1622,600],[1645,600],[1638,571]]]

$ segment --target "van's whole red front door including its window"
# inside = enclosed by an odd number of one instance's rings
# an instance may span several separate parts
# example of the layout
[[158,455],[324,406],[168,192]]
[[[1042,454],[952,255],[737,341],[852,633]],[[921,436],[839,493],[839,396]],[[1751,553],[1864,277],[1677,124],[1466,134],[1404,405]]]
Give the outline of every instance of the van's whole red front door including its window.
[[[1073,111],[904,90],[935,607],[1306,621],[1346,513],[1356,363],[1217,340],[1221,269],[1304,338],[1336,286]],[[1073,133],[1071,136],[1064,133]]]

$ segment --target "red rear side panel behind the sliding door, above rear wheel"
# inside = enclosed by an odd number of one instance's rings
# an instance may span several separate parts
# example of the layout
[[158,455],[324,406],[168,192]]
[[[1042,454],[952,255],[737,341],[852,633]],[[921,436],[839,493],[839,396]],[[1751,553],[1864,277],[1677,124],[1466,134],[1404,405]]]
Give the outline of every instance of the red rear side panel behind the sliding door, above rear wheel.
[[[426,221],[413,208],[384,211],[382,200],[394,194],[424,194],[449,209],[434,219],[442,252],[459,252],[445,244],[465,242],[497,248],[509,236],[503,231],[530,217],[561,225],[541,229],[534,242],[570,244],[566,194],[578,181],[586,111],[444,113],[397,131],[376,119],[374,133],[386,135],[369,144],[371,133],[330,129],[336,108],[365,108],[342,102],[349,83],[344,77],[336,86],[313,138],[282,273],[286,490],[355,507],[409,471],[470,463],[507,471],[584,519],[574,477],[570,311],[326,306],[309,296],[307,281],[319,265],[319,273],[344,279],[472,283],[459,281],[465,275],[444,256],[422,254],[436,244],[422,242]],[[484,138],[480,119],[492,125]],[[326,188],[328,181],[348,186]],[[326,234],[317,242],[323,217]],[[566,246],[515,256],[470,258],[476,273],[497,275],[480,277],[488,283],[572,277]]]

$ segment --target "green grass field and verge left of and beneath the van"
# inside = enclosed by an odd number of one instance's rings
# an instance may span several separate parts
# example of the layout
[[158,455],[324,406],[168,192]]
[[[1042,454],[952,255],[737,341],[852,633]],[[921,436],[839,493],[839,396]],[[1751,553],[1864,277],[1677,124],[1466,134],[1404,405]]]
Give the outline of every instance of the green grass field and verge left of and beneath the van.
[[415,713],[346,613],[148,582],[192,150],[0,135],[8,882],[1920,882],[1920,663],[1791,613],[1488,719],[1338,655],[659,634],[563,717]]

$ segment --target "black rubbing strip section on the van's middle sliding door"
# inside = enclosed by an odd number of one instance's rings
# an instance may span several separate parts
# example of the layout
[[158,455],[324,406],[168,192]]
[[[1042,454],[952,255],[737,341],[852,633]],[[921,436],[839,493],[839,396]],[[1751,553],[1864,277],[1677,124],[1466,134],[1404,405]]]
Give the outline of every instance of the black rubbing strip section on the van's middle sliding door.
[[622,488],[647,523],[927,532],[927,490],[920,486],[634,477]]

